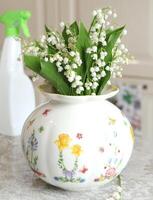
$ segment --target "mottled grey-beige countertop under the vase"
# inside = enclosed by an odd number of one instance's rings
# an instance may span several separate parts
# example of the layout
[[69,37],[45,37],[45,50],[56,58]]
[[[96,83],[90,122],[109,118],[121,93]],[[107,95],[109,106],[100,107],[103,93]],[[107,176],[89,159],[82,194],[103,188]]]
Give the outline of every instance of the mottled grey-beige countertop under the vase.
[[[143,140],[144,141],[144,140]],[[136,139],[132,158],[122,173],[122,200],[153,200],[153,144]],[[106,200],[113,184],[86,192],[68,192],[37,178],[23,156],[20,137],[0,134],[0,200]]]

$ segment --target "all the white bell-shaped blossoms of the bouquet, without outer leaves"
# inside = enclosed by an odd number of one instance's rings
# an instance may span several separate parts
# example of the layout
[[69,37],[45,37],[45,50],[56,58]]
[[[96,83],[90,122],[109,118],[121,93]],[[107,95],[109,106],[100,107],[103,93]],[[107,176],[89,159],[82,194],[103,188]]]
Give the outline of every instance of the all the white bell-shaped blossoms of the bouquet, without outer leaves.
[[[122,36],[127,34],[126,30],[123,31],[112,50],[112,59],[107,59],[109,58],[107,31],[114,29],[110,18],[116,18],[117,14],[110,8],[105,8],[93,11],[93,16],[89,29],[91,46],[86,49],[92,62],[85,77],[86,82],[83,82],[78,73],[78,68],[83,67],[82,63],[86,61],[81,60],[76,47],[77,35],[64,22],[61,22],[60,26],[67,35],[66,39],[56,31],[47,31],[39,42],[32,42],[24,48],[25,54],[39,56],[45,62],[54,63],[58,72],[66,77],[69,85],[78,95],[96,95],[102,79],[107,75],[112,78],[122,77],[122,66],[128,64],[128,49],[121,43]],[[108,80],[107,84],[111,84],[111,81]]]

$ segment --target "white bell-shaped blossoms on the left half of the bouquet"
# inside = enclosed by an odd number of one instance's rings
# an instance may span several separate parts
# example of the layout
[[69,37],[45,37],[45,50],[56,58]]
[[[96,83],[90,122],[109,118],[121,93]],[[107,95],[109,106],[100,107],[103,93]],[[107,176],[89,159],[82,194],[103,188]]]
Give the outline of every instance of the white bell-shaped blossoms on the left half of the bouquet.
[[[71,34],[69,29],[67,29],[67,34]],[[75,38],[70,37],[69,45],[71,47],[74,42]],[[54,55],[49,54],[47,50],[48,45],[52,45],[52,47],[55,47],[59,51]],[[79,52],[68,51],[63,41],[61,42],[61,39],[54,32],[48,37],[43,35],[39,47],[35,43],[29,44],[28,48],[25,48],[24,53],[40,56],[45,62],[55,63],[58,72],[63,72],[68,82],[71,83],[71,87],[75,88],[77,94],[81,94],[84,91],[82,77],[76,73],[76,69],[82,65]]]

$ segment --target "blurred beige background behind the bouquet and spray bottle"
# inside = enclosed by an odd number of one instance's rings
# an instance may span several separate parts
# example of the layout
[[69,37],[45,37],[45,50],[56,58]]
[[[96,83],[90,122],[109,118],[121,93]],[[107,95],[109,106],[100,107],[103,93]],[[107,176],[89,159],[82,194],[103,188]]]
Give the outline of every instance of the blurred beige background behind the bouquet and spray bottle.
[[[0,13],[14,9],[30,10],[30,31],[33,38],[39,38],[44,24],[58,28],[60,21],[71,22],[74,19],[89,24],[92,10],[104,6],[116,9],[118,22],[126,24],[128,35],[125,43],[135,57],[135,61],[125,68],[123,81],[116,80],[123,93],[126,90],[127,94],[131,93],[133,104],[124,105],[125,94],[121,94],[123,97],[120,96],[116,102],[125,107],[125,112],[132,113],[129,117],[131,120],[134,118],[137,129],[145,132],[145,137],[150,137],[153,135],[153,0],[0,0]],[[3,39],[0,25],[0,47]],[[134,103],[136,98],[137,104]]]

